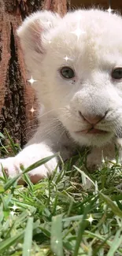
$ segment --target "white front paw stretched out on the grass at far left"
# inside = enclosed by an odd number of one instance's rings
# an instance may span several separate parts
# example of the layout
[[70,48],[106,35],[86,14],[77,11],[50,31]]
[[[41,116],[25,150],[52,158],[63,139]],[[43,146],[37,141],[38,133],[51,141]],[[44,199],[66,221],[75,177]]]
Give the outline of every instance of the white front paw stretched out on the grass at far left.
[[[46,150],[44,147],[39,148],[38,146],[34,147],[34,145],[26,147],[14,158],[0,159],[0,165],[2,164],[0,166],[0,176],[2,176],[2,166],[5,169],[6,175],[9,177],[13,177],[16,176],[18,173],[22,172],[20,169],[20,165],[23,165],[24,169],[26,169],[30,165],[34,164],[35,161],[39,161],[53,154],[53,152]],[[32,169],[30,172],[28,172],[31,182],[35,184],[46,176],[50,176],[50,174],[53,173],[56,167],[57,158],[52,158],[44,165],[40,165],[39,167]],[[24,184],[24,181],[20,179],[19,184]]]

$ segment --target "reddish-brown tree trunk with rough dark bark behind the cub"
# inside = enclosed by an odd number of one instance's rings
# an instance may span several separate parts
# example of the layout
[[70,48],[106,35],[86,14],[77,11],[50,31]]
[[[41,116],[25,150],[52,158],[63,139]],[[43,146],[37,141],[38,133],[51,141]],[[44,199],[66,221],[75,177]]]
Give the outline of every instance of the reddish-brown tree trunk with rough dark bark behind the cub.
[[39,9],[64,15],[66,0],[0,0],[0,132],[7,129],[23,147],[37,124],[35,92],[26,79],[23,54],[16,30],[22,20]]

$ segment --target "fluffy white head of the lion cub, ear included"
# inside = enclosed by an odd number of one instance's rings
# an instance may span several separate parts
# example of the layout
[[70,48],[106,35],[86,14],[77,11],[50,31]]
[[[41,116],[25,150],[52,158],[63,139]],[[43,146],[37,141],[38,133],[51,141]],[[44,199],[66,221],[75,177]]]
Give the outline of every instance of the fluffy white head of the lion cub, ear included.
[[54,109],[78,143],[101,146],[120,136],[121,17],[96,9],[68,13],[63,19],[50,12],[38,15],[24,22],[19,35],[41,102]]

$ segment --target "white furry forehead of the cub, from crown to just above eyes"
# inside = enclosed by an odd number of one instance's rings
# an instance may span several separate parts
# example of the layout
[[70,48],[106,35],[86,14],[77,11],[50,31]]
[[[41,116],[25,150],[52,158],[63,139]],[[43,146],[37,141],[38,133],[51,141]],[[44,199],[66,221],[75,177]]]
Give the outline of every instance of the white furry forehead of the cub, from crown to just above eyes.
[[[122,18],[98,9],[76,10],[67,13],[57,28],[50,32],[50,55],[69,56],[107,64],[107,56],[113,55],[113,63],[122,58]],[[119,55],[120,54],[120,55]]]

